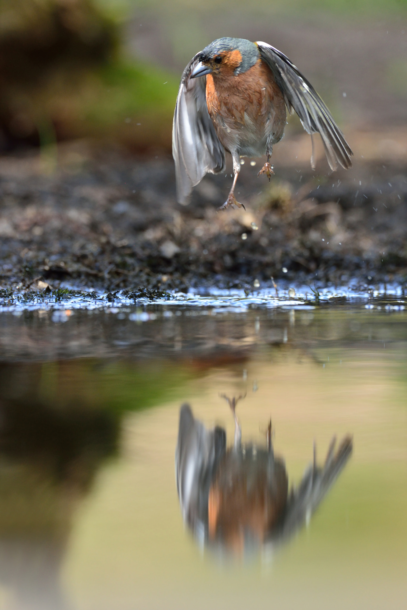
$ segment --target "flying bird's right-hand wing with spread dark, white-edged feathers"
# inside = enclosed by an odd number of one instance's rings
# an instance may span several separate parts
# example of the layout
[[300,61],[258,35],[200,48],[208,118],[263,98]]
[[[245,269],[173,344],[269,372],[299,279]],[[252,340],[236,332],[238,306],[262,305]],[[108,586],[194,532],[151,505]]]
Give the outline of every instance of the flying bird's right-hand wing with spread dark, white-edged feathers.
[[311,83],[281,51],[265,42],[256,45],[262,60],[272,70],[276,83],[283,92],[289,112],[294,108],[308,134],[321,135],[331,170],[337,169],[337,162],[345,169],[350,168],[353,152]]

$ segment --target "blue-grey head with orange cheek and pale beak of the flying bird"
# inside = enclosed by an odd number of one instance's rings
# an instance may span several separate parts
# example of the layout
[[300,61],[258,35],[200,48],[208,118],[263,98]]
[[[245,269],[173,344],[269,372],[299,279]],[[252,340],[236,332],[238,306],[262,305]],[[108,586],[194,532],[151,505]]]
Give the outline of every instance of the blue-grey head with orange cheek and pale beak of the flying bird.
[[226,76],[241,74],[259,59],[259,49],[243,38],[218,38],[198,54],[198,63],[191,78],[214,74]]

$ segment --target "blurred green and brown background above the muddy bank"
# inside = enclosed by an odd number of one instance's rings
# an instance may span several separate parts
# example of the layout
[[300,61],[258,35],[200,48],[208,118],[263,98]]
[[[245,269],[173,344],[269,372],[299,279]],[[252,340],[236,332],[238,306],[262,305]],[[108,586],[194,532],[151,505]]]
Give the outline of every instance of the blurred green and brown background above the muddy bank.
[[406,32],[406,0],[2,0],[0,149],[81,137],[169,149],[182,69],[225,35],[280,48],[339,123],[402,124]]

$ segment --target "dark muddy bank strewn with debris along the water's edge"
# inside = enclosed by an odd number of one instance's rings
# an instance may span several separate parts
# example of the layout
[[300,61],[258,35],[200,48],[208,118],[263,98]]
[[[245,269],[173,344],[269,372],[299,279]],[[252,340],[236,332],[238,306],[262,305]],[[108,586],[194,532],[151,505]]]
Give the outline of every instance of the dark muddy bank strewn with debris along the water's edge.
[[52,154],[2,157],[0,287],[250,288],[272,276],[403,284],[404,155],[385,162],[358,155],[353,170],[326,176],[322,161],[312,172],[304,146],[308,140],[298,138],[281,146],[270,185],[257,177],[261,160],[246,160],[237,186],[246,210],[220,213],[230,168],[207,176],[189,206],[179,206],[168,156],[137,159],[77,142]]

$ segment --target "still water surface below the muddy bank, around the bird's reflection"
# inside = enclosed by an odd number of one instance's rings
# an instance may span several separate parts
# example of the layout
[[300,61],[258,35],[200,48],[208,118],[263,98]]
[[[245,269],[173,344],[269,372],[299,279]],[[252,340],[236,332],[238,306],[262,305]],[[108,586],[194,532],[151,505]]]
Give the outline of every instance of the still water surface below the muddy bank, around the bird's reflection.
[[[0,608],[406,608],[404,305],[3,310]],[[182,519],[180,406],[233,447],[222,395],[241,397],[257,463],[271,418],[289,489],[314,443],[321,472],[333,436],[351,436],[315,512],[278,544],[207,544]]]

